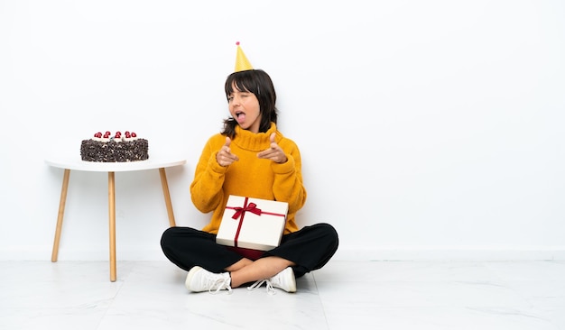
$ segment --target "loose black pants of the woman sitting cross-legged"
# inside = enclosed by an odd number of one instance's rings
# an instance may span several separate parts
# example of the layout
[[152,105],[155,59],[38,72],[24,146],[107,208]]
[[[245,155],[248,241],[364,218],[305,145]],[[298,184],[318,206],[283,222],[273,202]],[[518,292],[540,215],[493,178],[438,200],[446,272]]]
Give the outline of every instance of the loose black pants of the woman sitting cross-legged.
[[[338,251],[338,233],[329,224],[303,227],[298,232],[282,235],[281,244],[263,253],[278,256],[296,265],[292,267],[299,278],[311,270],[319,270]],[[223,272],[243,257],[216,243],[216,235],[190,227],[171,227],[161,238],[162,252],[183,270],[198,265],[212,272]]]

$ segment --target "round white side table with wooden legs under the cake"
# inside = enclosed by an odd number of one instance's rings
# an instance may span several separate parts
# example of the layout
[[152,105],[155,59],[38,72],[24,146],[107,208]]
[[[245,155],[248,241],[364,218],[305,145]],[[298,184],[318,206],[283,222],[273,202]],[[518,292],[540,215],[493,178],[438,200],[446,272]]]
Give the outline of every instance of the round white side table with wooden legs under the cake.
[[166,168],[181,166],[186,163],[185,159],[179,157],[159,158],[150,155],[148,160],[131,162],[91,162],[80,160],[80,155],[76,156],[52,156],[45,160],[52,167],[64,170],[63,183],[60,190],[59,215],[57,216],[57,227],[55,230],[55,241],[51,261],[56,262],[59,254],[60,232],[63,225],[63,215],[65,212],[65,202],[67,200],[67,189],[69,188],[70,170],[82,170],[92,172],[108,173],[108,211],[110,226],[110,280],[116,281],[116,186],[115,172],[126,172],[133,170],[159,170],[161,176],[162,193],[165,197],[169,223],[175,226],[174,215],[172,212],[171,195],[167,183]]

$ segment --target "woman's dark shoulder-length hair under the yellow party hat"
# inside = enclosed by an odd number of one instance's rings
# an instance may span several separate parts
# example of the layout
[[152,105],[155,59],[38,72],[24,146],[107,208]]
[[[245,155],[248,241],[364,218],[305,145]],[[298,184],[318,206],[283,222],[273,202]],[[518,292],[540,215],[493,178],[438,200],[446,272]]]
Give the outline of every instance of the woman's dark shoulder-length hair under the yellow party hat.
[[[234,92],[234,86],[239,91],[255,94],[259,100],[259,111],[261,114],[261,124],[259,132],[265,133],[271,128],[271,122],[276,124],[278,110],[276,104],[276,93],[274,92],[273,80],[262,69],[250,69],[234,72],[226,79],[226,97]],[[229,117],[224,120],[223,135],[230,138],[236,136],[236,119]]]

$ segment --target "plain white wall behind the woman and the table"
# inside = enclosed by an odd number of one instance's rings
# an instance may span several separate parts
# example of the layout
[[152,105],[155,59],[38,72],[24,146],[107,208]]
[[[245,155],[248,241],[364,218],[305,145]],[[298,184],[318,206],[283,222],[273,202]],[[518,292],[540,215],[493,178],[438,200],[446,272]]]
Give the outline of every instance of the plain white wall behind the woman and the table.
[[[275,83],[301,148],[301,225],[338,259],[565,259],[561,1],[0,0],[0,259],[49,260],[62,170],[98,131],[135,131],[177,225],[227,117],[236,41]],[[117,258],[160,260],[156,170],[116,173]],[[60,260],[108,258],[107,175],[70,173]]]

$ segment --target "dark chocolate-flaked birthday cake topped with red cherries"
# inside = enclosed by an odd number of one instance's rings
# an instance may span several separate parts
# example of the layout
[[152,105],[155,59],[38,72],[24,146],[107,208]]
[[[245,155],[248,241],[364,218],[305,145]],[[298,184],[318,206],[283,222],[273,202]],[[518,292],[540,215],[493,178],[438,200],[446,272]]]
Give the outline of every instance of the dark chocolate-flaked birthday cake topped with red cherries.
[[149,142],[126,131],[95,133],[91,139],[80,144],[80,158],[85,161],[125,162],[149,159]]

